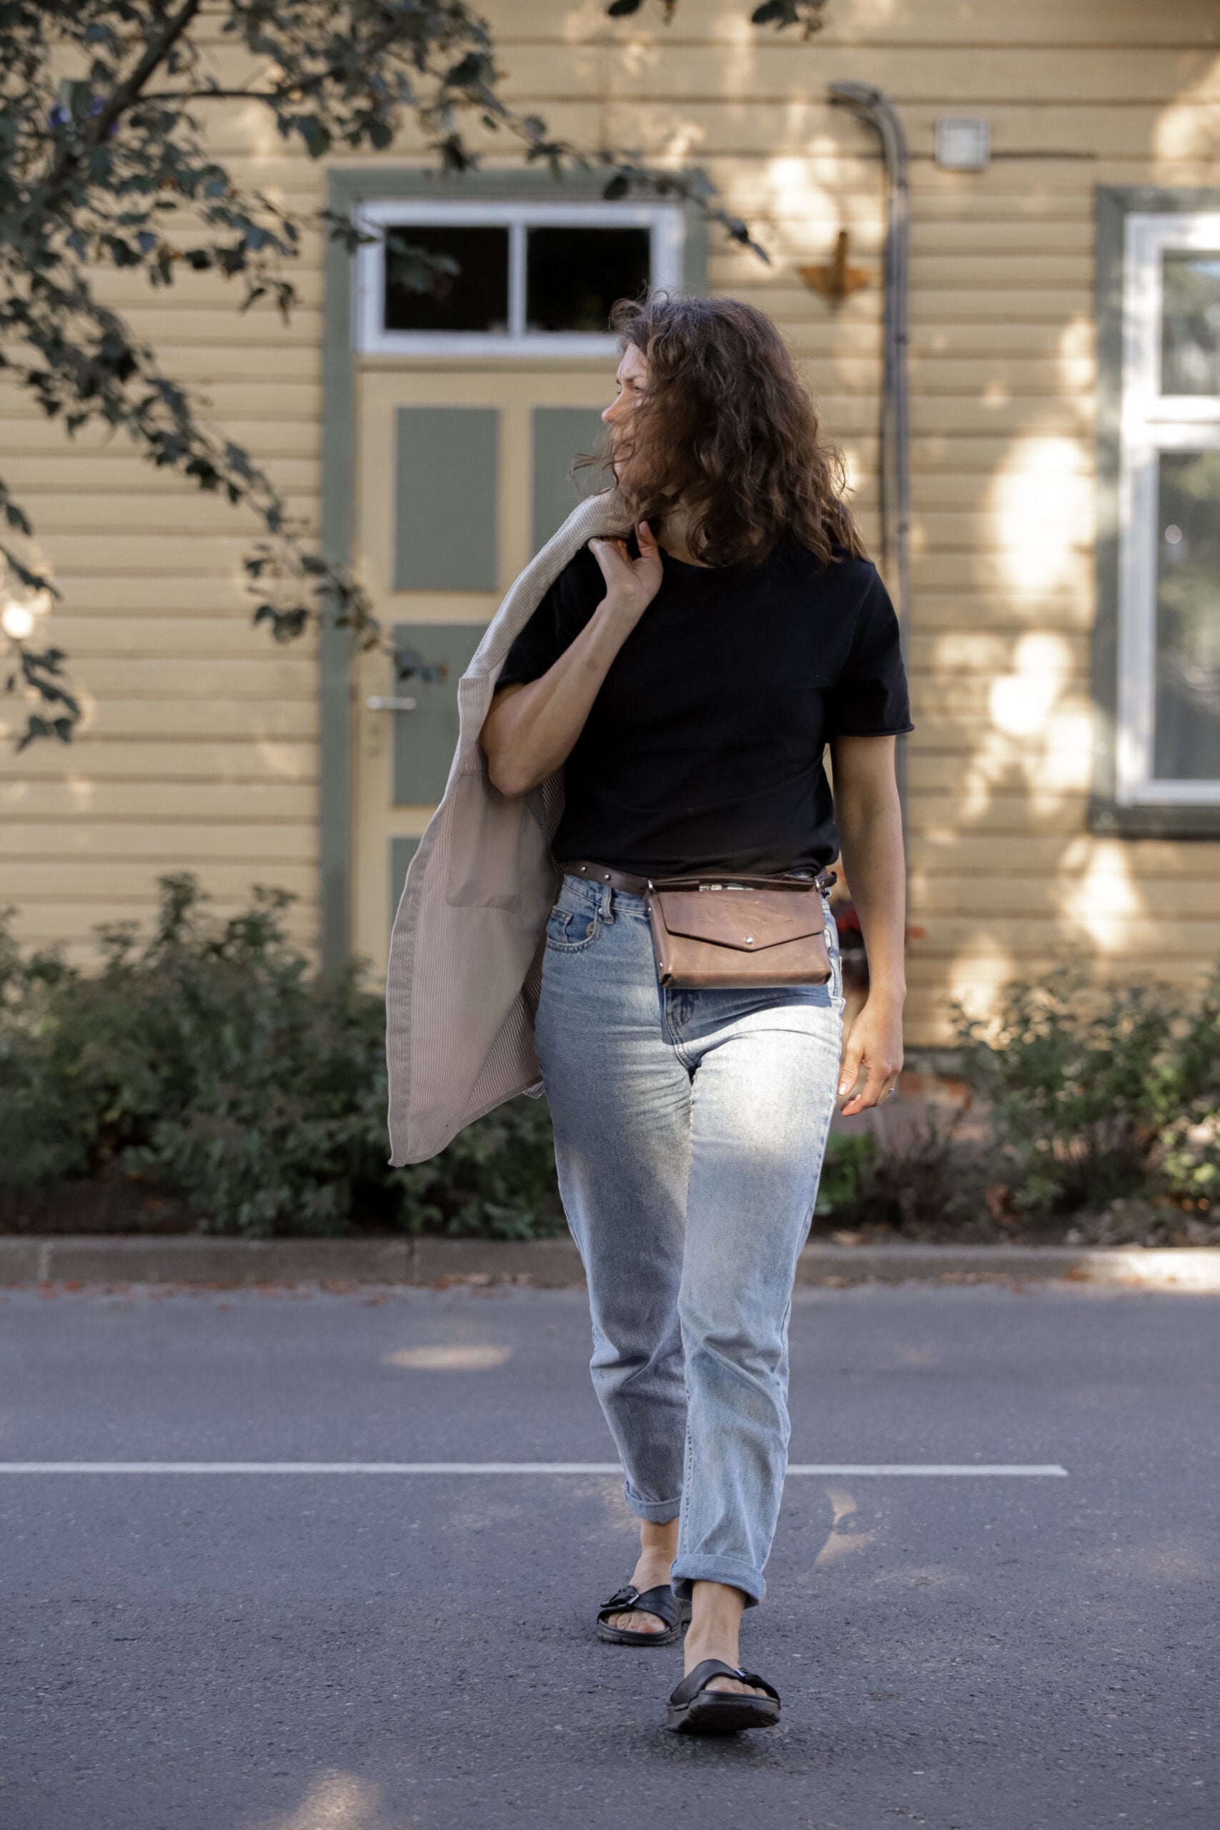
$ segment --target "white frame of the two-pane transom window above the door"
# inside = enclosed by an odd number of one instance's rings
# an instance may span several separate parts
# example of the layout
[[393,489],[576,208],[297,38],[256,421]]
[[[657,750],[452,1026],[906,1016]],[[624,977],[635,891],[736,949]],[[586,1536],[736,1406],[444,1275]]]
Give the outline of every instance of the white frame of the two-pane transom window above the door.
[[[386,296],[386,231],[444,223],[461,229],[508,229],[508,329],[507,331],[388,331],[382,322]],[[501,203],[470,199],[379,198],[362,203],[357,225],[377,240],[355,258],[355,326],[362,355],[613,355],[618,340],[598,331],[525,329],[525,231],[629,227],[651,231],[651,284],[682,284],[684,214],[680,203]]]

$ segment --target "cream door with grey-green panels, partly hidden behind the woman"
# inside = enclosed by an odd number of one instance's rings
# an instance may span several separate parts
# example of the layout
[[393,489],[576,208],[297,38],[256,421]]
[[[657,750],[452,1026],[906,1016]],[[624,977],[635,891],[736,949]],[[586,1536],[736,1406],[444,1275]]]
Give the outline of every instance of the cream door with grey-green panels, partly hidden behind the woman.
[[359,575],[395,646],[446,670],[395,681],[386,655],[353,657],[353,950],[379,975],[457,745],[457,681],[514,576],[605,487],[567,472],[613,392],[615,357],[359,368]]

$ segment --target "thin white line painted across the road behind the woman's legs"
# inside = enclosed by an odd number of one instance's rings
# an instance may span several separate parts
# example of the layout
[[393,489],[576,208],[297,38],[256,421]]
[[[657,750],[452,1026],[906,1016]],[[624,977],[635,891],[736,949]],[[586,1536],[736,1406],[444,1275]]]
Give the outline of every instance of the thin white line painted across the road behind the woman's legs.
[[[1066,1475],[1057,1462],[792,1462],[788,1475]],[[0,1462],[0,1475],[622,1475],[618,1462]]]

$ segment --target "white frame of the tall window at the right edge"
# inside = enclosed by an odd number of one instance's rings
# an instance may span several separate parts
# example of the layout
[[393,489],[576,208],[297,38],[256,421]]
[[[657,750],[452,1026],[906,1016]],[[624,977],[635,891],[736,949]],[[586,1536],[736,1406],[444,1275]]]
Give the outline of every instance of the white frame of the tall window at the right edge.
[[1161,258],[1178,249],[1220,251],[1220,210],[1127,216],[1114,759],[1119,807],[1220,805],[1220,781],[1167,781],[1152,774],[1158,461],[1161,452],[1220,450],[1220,395],[1161,393]]

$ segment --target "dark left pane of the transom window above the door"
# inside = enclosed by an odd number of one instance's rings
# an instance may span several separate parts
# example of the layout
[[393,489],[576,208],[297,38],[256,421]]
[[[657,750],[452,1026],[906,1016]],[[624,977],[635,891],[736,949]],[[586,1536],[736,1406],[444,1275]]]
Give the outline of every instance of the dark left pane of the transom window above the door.
[[[413,291],[419,273],[406,249],[446,254],[457,273],[433,291]],[[450,229],[439,223],[397,223],[386,231],[388,331],[507,331],[508,231]]]

